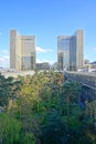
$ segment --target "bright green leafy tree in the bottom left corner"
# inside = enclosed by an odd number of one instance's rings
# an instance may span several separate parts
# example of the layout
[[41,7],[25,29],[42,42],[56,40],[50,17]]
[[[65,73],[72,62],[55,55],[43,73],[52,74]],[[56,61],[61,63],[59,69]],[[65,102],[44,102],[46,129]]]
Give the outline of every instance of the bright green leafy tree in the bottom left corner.
[[8,114],[0,115],[0,137],[3,144],[17,143],[20,138],[21,125]]

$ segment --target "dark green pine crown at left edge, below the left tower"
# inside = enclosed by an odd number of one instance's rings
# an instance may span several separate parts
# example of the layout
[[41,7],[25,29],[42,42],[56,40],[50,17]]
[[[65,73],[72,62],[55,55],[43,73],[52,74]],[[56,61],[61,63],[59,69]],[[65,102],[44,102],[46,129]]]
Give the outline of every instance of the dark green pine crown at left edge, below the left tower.
[[11,99],[19,95],[20,82],[9,76],[6,79],[0,74],[0,106],[8,106]]

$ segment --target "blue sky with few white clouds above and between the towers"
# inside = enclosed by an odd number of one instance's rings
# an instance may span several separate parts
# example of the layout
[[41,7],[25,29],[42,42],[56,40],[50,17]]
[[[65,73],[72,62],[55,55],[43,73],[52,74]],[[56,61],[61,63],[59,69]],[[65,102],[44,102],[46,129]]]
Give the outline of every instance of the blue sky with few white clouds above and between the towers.
[[0,0],[0,65],[9,66],[10,30],[36,37],[36,61],[57,61],[57,35],[84,29],[84,58],[96,61],[96,0]]

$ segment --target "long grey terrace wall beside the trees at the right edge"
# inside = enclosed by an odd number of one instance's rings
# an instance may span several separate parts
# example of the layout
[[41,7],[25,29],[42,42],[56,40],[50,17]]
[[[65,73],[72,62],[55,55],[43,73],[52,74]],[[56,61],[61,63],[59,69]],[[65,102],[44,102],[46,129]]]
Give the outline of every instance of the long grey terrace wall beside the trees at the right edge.
[[96,74],[65,72],[65,78],[82,84],[82,95],[88,102],[96,100]]

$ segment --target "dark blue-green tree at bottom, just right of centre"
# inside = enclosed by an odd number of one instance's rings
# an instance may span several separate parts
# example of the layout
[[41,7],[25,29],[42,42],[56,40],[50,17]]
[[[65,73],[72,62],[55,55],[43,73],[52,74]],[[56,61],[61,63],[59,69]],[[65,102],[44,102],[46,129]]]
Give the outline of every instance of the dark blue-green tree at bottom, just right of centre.
[[42,127],[42,144],[63,144],[67,140],[67,125],[57,112],[52,112]]

